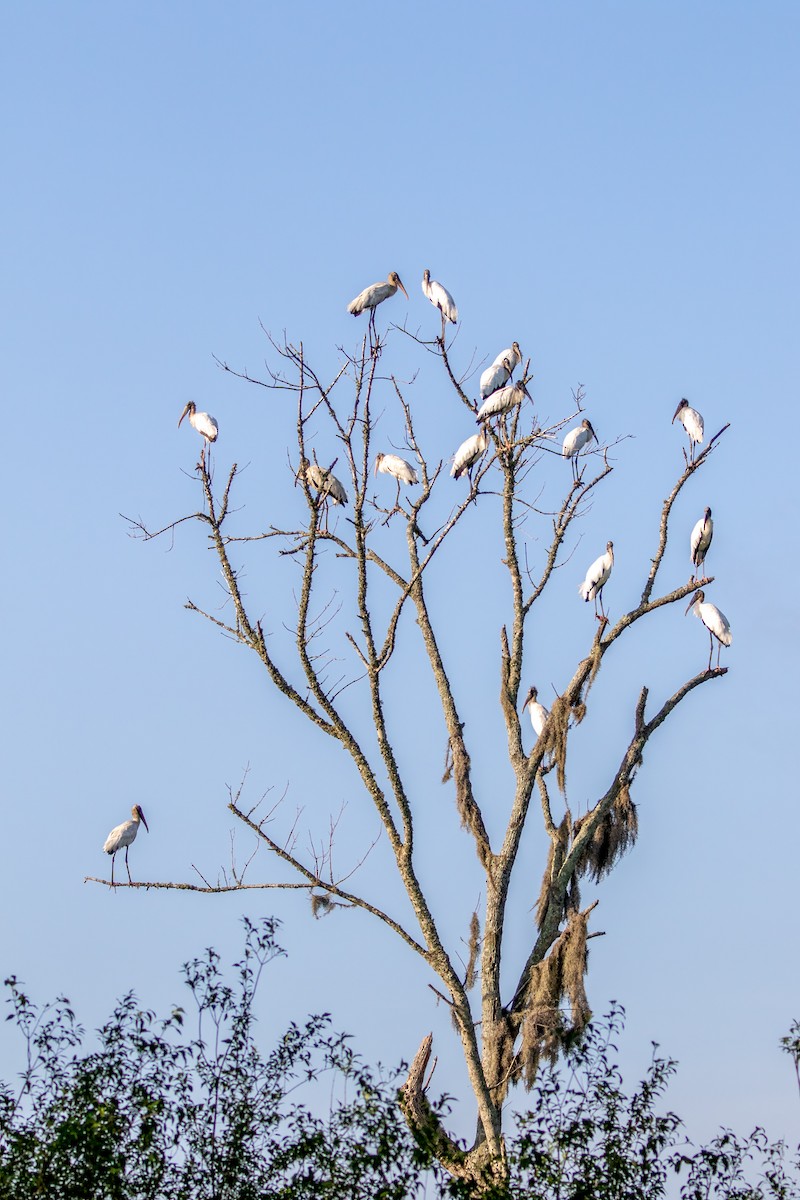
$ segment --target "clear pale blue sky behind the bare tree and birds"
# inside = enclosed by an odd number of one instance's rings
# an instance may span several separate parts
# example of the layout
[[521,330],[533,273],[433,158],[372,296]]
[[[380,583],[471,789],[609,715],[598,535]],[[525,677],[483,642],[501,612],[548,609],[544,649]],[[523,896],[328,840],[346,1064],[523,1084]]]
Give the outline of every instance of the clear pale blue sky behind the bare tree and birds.
[[[597,893],[593,928],[606,936],[591,943],[589,992],[597,1010],[612,997],[627,1007],[631,1079],[650,1039],[680,1060],[669,1103],[693,1134],[762,1122],[796,1136],[776,1046],[800,1016],[799,34],[794,4],[730,0],[6,8],[4,974],[37,998],[66,992],[98,1022],[128,988],[166,1007],[182,960],[206,944],[235,955],[240,913],[276,913],[289,958],[265,1028],[329,1009],[389,1063],[434,1028],[440,1086],[467,1094],[427,977],[361,914],[314,922],[296,893],[113,895],[83,882],[107,871],[103,839],[133,803],[150,823],[134,877],[216,874],[229,859],[227,785],[247,764],[253,799],[288,787],[289,812],[303,808],[303,839],[343,802],[343,857],[374,835],[351,774],[269,692],[255,659],[185,611],[187,596],[221,595],[199,528],[143,546],[120,514],[158,526],[197,506],[196,434],[176,428],[193,397],[219,421],[217,469],[249,464],[242,524],[300,520],[290,401],[224,376],[213,355],[263,372],[261,322],[333,371],[337,346],[362,331],[348,300],[390,270],[410,294],[391,301],[392,319],[433,334],[428,266],[461,308],[461,367],[518,338],[542,412],[561,415],[581,383],[602,438],[630,436],[542,614],[543,678],[563,682],[585,653],[591,617],[576,588],[608,536],[612,614],[640,589],[682,462],[676,401],[688,396],[711,431],[730,421],[681,496],[664,564],[672,586],[686,580],[688,530],[710,504],[730,670],[646,754],[639,842]],[[401,341],[408,377],[416,358]],[[432,360],[410,398],[432,452],[452,454],[469,430]],[[389,408],[383,430],[399,438]],[[546,466],[554,479],[560,464]],[[279,628],[290,575],[267,553],[248,562],[253,601]],[[456,610],[449,650],[470,667],[467,708],[474,724],[489,714],[492,811],[507,613],[481,622],[482,569],[455,595],[439,587],[443,613]],[[609,661],[576,739],[575,808],[618,757],[638,686],[672,690],[706,644],[670,610]],[[440,731],[407,684],[395,720],[419,758],[421,864],[456,942],[477,899],[473,852],[434,778]],[[541,834],[530,852],[521,946]],[[365,890],[381,888],[381,853]],[[266,856],[251,870],[269,878]],[[0,1068],[14,1069],[7,1040]],[[461,1114],[467,1132],[471,1105]]]

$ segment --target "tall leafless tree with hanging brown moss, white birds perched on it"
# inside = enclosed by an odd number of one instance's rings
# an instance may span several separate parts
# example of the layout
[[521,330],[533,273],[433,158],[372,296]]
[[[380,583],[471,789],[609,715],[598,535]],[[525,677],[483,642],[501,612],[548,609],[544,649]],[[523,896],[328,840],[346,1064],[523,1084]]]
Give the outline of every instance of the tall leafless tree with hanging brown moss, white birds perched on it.
[[[446,478],[443,462],[426,455],[417,439],[407,398],[409,385],[387,373],[384,366],[391,340],[397,337],[413,338],[422,353],[439,360],[443,382],[451,389],[451,403],[461,406],[464,414],[464,431],[470,425],[474,430],[477,404],[467,392],[467,376],[458,376],[452,365],[452,346],[447,347],[444,331],[435,341],[423,341],[405,329],[395,328],[383,336],[371,329],[357,354],[342,352],[341,366],[330,383],[315,373],[302,344],[270,338],[277,355],[276,370],[269,370],[264,379],[231,373],[282,396],[294,396],[296,444],[290,451],[290,467],[305,497],[306,520],[296,528],[270,526],[248,534],[235,532],[230,520],[231,497],[239,468],[234,463],[217,487],[210,457],[204,455],[197,466],[201,493],[198,511],[160,530],[134,522],[134,532],[145,539],[157,538],[186,521],[205,530],[222,569],[227,608],[221,616],[193,601],[187,607],[248,647],[277,691],[296,706],[313,732],[333,739],[349,756],[363,786],[363,799],[374,808],[385,830],[397,876],[408,896],[407,916],[399,919],[381,904],[380,896],[356,890],[349,882],[353,872],[342,876],[333,871],[335,820],[326,839],[317,842],[318,850],[303,857],[297,850],[294,826],[278,836],[272,832],[278,820],[276,810],[264,815],[258,806],[248,809],[241,788],[230,793],[230,810],[260,845],[288,864],[294,872],[290,882],[249,882],[246,868],[240,870],[234,863],[230,874],[225,872],[216,883],[204,880],[133,886],[209,892],[302,888],[312,895],[315,913],[333,906],[355,906],[383,922],[438,977],[435,990],[451,1008],[475,1097],[475,1139],[469,1147],[459,1145],[427,1100],[429,1037],[414,1057],[402,1091],[405,1117],[445,1169],[480,1194],[501,1188],[505,1178],[503,1106],[509,1090],[518,1082],[530,1086],[540,1061],[554,1060],[564,1039],[581,1031],[590,1016],[584,979],[588,940],[596,936],[589,929],[589,918],[597,901],[582,906],[581,881],[602,880],[636,840],[637,810],[631,786],[651,736],[693,689],[726,673],[724,668],[709,666],[655,703],[649,703],[649,690],[642,686],[638,696],[631,697],[630,734],[619,748],[619,764],[610,778],[597,781],[588,811],[572,817],[566,803],[570,740],[584,719],[591,686],[606,655],[640,620],[685,600],[698,586],[690,580],[664,593],[656,589],[675,499],[703,468],[720,434],[693,461],[686,457],[682,472],[663,500],[651,557],[643,565],[638,604],[614,623],[602,614],[596,623],[591,620],[591,636],[573,660],[567,682],[552,700],[541,734],[527,754],[521,726],[521,692],[530,682],[523,679],[530,670],[525,661],[527,630],[546,589],[555,581],[561,586],[557,572],[569,554],[573,523],[612,473],[609,448],[600,446],[584,455],[581,469],[572,475],[560,460],[560,443],[565,427],[583,410],[582,389],[573,392],[571,410],[546,427],[537,424],[535,404],[518,389],[512,406],[483,426],[487,446],[482,455],[476,451],[469,479],[453,484]],[[230,370],[227,364],[221,366]],[[530,362],[519,366],[522,382],[527,383]],[[419,488],[402,491],[398,479],[396,496],[393,485],[389,485],[393,496],[390,504],[378,499],[378,494],[387,493],[385,488],[378,492],[371,472],[375,450],[380,449],[377,431],[386,406],[402,418],[403,452],[420,480]],[[321,458],[317,455],[318,445],[326,448]],[[539,480],[549,466],[547,456],[553,454],[559,456],[554,463],[559,478],[565,484],[570,478],[570,482],[548,512],[540,503],[545,485]],[[531,484],[540,488],[534,500]],[[465,492],[457,493],[462,498],[453,503],[456,490],[464,487]],[[344,508],[342,496],[348,488],[351,494]],[[338,506],[333,510],[335,505]],[[462,545],[470,545],[470,553],[480,553],[470,540],[471,528],[476,514],[487,506],[494,521],[493,544],[485,551],[486,560],[479,558],[474,564],[474,572],[480,578],[492,570],[500,551],[507,578],[506,619],[499,629],[491,630],[479,612],[473,636],[481,641],[498,638],[505,751],[497,745],[487,750],[481,744],[485,733],[468,731],[465,726],[463,696],[471,677],[463,662],[447,661],[431,600],[445,546],[458,545],[461,539]],[[240,584],[246,554],[258,541],[273,545],[279,556],[289,556],[299,568],[296,625],[288,638],[281,636],[279,629],[265,630],[266,617],[257,613]],[[325,590],[331,551],[336,570],[344,572],[348,581],[338,589],[336,605],[331,592]],[[402,565],[396,565],[398,556]],[[570,592],[570,602],[577,602],[572,580]],[[414,620],[403,620],[407,611]],[[443,784],[451,790],[455,810],[471,839],[482,874],[482,914],[479,918],[475,912],[470,918],[467,913],[457,932],[444,928],[415,862],[421,798],[413,794],[398,754],[398,746],[409,737],[414,713],[407,709],[398,719],[387,698],[387,683],[401,650],[427,662],[438,695],[443,750],[446,749]],[[336,671],[341,674],[336,676]],[[423,719],[427,721],[428,716]],[[476,744],[470,740],[473,733]],[[487,797],[477,794],[474,785],[471,754],[475,752],[507,756],[513,786],[506,796],[507,817],[500,836],[489,832],[497,820],[497,794],[492,796],[492,821],[487,821]],[[559,820],[553,816],[557,792],[564,798],[565,809]],[[521,865],[523,830],[537,820],[547,834],[549,854],[542,864],[527,958],[516,965],[516,985],[509,991],[501,988],[500,972],[509,889],[515,869]],[[524,872],[529,872],[527,865]],[[469,953],[464,962],[459,935],[467,928]],[[507,962],[505,971],[507,978]]]

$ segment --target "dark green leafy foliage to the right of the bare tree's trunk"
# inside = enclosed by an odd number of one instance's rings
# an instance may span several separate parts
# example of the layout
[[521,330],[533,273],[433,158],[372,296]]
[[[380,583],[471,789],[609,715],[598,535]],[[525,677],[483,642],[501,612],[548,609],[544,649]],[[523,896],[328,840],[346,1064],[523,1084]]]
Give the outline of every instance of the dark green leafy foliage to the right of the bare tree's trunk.
[[515,1200],[782,1200],[800,1196],[800,1156],[763,1129],[721,1130],[708,1146],[685,1138],[681,1120],[658,1111],[676,1063],[657,1054],[626,1094],[615,1063],[624,1010],[615,1007],[573,1040],[564,1062],[540,1074],[534,1106],[511,1141]]

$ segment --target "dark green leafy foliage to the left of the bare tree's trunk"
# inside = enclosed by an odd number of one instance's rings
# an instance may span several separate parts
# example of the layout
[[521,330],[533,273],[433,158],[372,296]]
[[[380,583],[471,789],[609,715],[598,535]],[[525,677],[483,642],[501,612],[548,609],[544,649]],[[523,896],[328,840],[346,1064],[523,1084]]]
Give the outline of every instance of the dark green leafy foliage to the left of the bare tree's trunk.
[[[423,1165],[395,1103],[326,1016],[290,1025],[263,1055],[253,1000],[281,953],[275,923],[246,922],[235,985],[219,956],[186,964],[192,1021],[125,996],[84,1050],[64,998],[38,1009],[6,980],[25,1043],[17,1091],[0,1090],[0,1196],[59,1200],[404,1200]],[[190,1031],[188,1025],[192,1025]],[[331,1075],[320,1115],[299,1090]],[[313,1091],[313,1088],[312,1088]],[[320,1100],[320,1092],[309,1097]]]

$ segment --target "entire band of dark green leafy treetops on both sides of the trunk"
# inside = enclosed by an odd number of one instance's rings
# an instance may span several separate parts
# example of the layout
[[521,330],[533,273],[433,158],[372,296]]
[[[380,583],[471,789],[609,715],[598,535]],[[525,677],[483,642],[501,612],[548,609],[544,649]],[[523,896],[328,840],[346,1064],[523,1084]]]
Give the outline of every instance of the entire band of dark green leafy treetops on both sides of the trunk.
[[[269,1054],[259,1049],[253,1001],[282,952],[273,922],[245,928],[233,984],[206,950],[184,967],[188,1013],[158,1019],[128,994],[91,1048],[64,997],[37,1008],[6,980],[7,1020],[22,1034],[25,1063],[17,1088],[0,1085],[1,1198],[476,1194],[431,1165],[402,1121],[397,1080],[369,1072],[326,1016],[290,1025]],[[483,1198],[800,1198],[796,1157],[762,1129],[747,1138],[721,1130],[699,1148],[686,1141],[679,1117],[662,1110],[675,1063],[655,1046],[628,1094],[616,1067],[621,1026],[621,1008],[593,1020],[558,1066],[540,1072],[507,1142],[507,1183]],[[782,1045],[796,1062],[800,1026]]]

